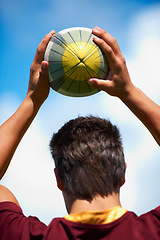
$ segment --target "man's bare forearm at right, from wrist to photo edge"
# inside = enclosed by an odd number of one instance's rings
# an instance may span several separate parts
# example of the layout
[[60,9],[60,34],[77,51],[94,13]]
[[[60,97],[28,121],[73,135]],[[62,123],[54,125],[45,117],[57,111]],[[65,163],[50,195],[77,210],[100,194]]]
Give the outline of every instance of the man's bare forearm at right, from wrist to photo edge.
[[147,127],[160,145],[160,106],[135,86],[132,86],[121,100]]

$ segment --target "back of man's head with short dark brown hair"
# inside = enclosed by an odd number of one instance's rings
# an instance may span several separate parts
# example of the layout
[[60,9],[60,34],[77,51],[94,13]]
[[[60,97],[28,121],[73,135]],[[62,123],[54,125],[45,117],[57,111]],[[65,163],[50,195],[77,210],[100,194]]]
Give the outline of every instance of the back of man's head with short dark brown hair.
[[73,199],[118,193],[125,174],[121,138],[110,121],[93,116],[66,123],[50,141],[58,176]]

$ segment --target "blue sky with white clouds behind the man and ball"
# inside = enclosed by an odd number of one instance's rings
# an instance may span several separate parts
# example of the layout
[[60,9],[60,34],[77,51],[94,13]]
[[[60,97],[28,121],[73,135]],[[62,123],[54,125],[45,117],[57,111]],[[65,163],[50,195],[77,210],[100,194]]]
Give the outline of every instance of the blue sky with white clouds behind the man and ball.
[[[117,39],[134,84],[160,104],[159,1],[1,0],[0,123],[25,97],[30,65],[43,36],[52,29],[58,32],[96,25]],[[87,114],[110,118],[121,130],[128,166],[122,206],[141,214],[159,204],[159,147],[134,115],[104,92],[71,98],[51,90],[2,180],[26,215],[37,215],[49,223],[53,217],[66,214],[56,189],[48,143],[64,122]]]

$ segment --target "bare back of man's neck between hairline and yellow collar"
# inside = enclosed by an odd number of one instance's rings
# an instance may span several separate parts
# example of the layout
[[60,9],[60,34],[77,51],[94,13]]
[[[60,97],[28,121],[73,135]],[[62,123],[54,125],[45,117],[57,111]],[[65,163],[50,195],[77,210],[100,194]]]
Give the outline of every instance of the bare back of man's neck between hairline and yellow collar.
[[91,202],[86,200],[76,200],[73,202],[70,213],[80,213],[83,211],[103,211],[107,210],[116,206],[121,207],[119,194],[112,194],[108,197],[95,197]]

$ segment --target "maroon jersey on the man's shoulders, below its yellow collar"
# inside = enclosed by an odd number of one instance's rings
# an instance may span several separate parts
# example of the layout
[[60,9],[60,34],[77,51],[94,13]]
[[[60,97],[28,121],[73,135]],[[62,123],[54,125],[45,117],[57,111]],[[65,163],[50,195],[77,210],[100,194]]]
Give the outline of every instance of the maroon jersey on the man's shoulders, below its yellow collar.
[[0,203],[0,240],[159,240],[160,207],[137,216],[126,212],[119,219],[102,225],[55,218],[49,226],[36,217],[26,217],[11,202]]

